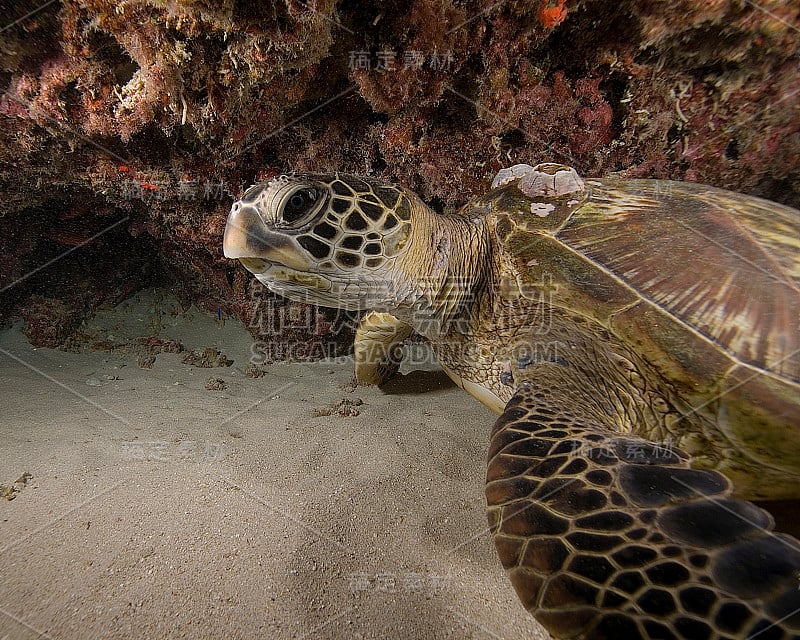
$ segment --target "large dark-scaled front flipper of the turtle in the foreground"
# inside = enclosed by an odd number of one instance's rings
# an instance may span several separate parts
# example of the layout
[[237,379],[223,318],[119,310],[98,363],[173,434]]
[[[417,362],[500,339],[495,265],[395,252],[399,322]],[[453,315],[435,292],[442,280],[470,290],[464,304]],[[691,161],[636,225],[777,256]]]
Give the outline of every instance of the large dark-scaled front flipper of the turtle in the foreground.
[[497,420],[486,496],[503,565],[554,638],[800,637],[797,540],[720,473],[567,415],[545,387],[523,381]]

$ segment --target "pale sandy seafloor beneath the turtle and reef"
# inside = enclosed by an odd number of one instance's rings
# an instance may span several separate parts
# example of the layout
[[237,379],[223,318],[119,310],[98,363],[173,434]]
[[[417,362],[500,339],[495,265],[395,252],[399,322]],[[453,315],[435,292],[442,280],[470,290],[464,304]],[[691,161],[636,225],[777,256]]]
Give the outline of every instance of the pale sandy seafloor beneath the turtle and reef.
[[[486,531],[487,409],[435,364],[384,390],[349,359],[251,379],[241,324],[175,306],[146,291],[84,328],[232,366],[0,332],[0,484],[32,476],[0,500],[0,640],[546,637]],[[358,416],[314,417],[345,398]]]

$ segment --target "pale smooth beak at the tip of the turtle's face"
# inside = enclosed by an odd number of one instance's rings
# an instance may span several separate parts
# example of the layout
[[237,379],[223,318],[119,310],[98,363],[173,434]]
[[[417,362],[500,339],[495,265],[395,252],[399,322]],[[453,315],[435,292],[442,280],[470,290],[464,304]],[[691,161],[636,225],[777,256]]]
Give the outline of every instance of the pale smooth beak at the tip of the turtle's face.
[[226,258],[238,258],[253,273],[263,272],[270,263],[297,271],[312,267],[292,236],[270,229],[255,206],[241,201],[234,202],[228,214],[222,251]]

